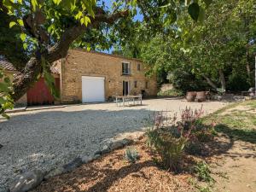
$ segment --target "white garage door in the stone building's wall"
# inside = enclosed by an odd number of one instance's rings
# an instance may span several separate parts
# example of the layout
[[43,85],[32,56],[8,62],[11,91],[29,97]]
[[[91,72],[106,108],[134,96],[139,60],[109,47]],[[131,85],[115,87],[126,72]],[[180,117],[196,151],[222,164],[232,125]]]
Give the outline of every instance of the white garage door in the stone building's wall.
[[105,102],[104,78],[82,77],[82,101],[83,102]]

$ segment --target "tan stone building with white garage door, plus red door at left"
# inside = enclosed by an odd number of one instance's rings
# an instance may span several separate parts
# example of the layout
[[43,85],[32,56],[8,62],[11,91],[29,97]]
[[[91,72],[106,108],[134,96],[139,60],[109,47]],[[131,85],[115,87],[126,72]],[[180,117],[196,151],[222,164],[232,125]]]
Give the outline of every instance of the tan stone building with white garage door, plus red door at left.
[[[15,68],[9,72],[15,73]],[[23,100],[28,105],[42,105],[106,102],[125,95],[156,96],[156,78],[146,77],[145,72],[143,62],[137,59],[69,49],[66,58],[55,61],[51,67],[60,100],[50,96],[44,76],[27,91]]]

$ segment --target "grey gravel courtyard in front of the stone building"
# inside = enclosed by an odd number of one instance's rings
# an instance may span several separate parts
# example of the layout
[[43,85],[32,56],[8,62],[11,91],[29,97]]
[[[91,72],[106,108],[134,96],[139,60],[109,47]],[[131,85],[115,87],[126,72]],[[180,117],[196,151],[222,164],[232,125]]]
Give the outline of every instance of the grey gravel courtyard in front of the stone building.
[[[204,102],[206,113],[224,107],[224,102]],[[143,101],[143,106],[116,107],[114,103],[70,105],[66,108],[12,113],[0,119],[0,192],[16,174],[27,170],[49,171],[91,154],[103,141],[125,132],[142,131],[154,111],[178,113],[201,103],[162,98]]]

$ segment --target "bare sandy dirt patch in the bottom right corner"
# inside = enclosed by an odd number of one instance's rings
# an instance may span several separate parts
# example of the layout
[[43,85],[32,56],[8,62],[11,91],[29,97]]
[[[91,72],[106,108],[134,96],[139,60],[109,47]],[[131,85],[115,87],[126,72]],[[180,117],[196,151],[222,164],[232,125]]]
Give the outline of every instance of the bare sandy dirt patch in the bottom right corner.
[[219,155],[217,163],[212,165],[216,180],[212,191],[255,192],[256,146],[241,141],[230,142],[232,147]]

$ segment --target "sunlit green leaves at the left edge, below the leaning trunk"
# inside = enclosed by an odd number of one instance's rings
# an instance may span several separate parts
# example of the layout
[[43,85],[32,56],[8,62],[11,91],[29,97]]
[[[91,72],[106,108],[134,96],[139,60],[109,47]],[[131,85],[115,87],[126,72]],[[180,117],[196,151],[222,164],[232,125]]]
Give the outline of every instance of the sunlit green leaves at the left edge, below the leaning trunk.
[[0,68],[0,114],[4,118],[9,118],[5,113],[6,109],[14,108],[14,101],[11,98],[13,87],[9,77]]

